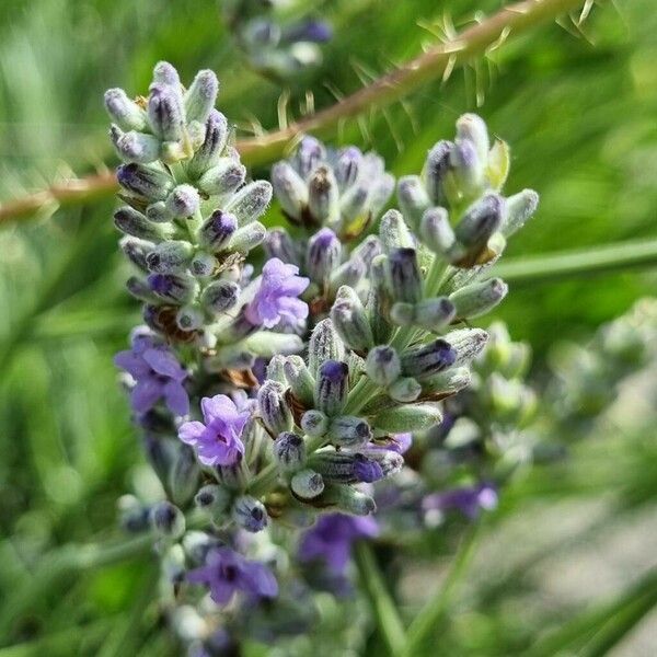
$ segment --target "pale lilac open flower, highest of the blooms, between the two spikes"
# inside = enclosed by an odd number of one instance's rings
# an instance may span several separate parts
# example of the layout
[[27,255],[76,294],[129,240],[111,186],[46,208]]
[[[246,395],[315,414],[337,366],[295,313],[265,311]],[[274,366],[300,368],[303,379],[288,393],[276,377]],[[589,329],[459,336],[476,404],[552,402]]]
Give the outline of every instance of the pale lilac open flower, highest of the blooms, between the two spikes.
[[310,280],[296,265],[274,257],[263,267],[260,289],[245,308],[246,319],[254,325],[272,328],[280,321],[293,325],[308,316],[308,304],[298,299]]

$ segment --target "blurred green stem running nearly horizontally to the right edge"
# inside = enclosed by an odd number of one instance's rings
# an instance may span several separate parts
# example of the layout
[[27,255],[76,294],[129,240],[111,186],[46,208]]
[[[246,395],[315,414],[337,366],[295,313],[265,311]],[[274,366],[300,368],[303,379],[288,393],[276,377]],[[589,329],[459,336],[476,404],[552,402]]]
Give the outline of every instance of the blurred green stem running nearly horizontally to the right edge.
[[657,240],[518,257],[495,265],[493,272],[509,283],[525,284],[653,266],[657,266]]

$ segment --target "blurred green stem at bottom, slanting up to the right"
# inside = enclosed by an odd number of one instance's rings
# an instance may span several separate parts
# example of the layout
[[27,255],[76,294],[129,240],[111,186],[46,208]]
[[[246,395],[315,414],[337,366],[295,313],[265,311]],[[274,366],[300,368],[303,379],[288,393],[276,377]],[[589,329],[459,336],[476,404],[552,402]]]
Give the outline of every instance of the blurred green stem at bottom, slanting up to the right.
[[454,592],[472,562],[477,538],[481,533],[481,526],[482,522],[479,521],[470,528],[470,533],[464,538],[445,583],[436,595],[420,609],[413,623],[411,623],[403,657],[414,657],[422,654],[420,652],[425,643],[437,633]]

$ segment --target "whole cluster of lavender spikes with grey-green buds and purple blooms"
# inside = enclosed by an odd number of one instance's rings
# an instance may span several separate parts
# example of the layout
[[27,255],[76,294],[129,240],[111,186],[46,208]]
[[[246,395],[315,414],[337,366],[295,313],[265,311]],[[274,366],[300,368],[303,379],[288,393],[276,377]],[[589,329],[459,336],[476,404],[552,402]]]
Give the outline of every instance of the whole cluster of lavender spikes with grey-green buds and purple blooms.
[[[466,322],[505,297],[487,270],[537,205],[502,196],[506,147],[474,115],[399,182],[402,211],[381,216],[394,191],[381,158],[312,137],[273,185],[249,181],[217,91],[211,71],[185,91],[161,62],[148,97],[105,96],[146,322],[116,365],[162,488],[124,500],[124,523],[159,537],[173,624],[210,654],[260,600],[311,599],[308,562],[341,588],[351,543],[378,532],[373,485],[408,470],[412,435],[439,430],[473,371],[500,405],[491,368],[509,358],[479,365],[488,335]],[[290,232],[260,221],[273,192]],[[198,584],[243,613],[191,606]]]

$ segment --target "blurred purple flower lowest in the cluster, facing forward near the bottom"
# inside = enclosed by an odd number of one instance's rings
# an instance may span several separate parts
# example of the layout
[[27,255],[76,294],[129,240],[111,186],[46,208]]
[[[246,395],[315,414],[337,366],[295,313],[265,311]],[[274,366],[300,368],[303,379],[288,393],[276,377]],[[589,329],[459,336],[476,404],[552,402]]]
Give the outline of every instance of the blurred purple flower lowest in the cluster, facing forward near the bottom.
[[187,580],[205,584],[217,604],[226,604],[242,591],[251,598],[275,598],[278,584],[264,564],[244,558],[229,548],[214,548],[200,568],[187,573]]

